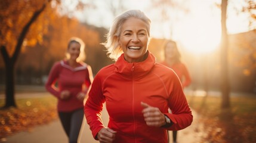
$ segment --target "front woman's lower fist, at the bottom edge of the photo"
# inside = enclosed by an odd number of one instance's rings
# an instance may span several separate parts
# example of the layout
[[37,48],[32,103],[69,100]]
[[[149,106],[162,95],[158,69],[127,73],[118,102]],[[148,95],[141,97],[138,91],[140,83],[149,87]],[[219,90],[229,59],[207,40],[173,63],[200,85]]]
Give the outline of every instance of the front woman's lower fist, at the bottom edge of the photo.
[[100,143],[111,143],[116,138],[116,131],[109,128],[102,128],[97,135]]

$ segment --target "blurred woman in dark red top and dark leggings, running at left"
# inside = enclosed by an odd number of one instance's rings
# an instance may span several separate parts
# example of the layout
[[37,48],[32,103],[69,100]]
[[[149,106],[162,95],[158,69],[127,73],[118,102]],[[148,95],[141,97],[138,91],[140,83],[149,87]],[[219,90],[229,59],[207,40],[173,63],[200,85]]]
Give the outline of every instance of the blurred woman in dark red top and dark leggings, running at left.
[[70,39],[67,58],[51,68],[45,88],[58,99],[58,116],[69,142],[79,142],[84,119],[84,99],[92,82],[91,67],[84,63],[84,42]]

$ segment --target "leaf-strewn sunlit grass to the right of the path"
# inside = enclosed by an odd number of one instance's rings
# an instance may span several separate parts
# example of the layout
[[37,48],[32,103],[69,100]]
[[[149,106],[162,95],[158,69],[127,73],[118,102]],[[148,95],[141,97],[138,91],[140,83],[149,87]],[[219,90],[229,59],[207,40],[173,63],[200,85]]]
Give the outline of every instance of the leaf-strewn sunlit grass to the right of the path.
[[256,142],[256,97],[230,97],[230,108],[221,108],[221,97],[187,100],[201,116],[208,136],[203,142]]

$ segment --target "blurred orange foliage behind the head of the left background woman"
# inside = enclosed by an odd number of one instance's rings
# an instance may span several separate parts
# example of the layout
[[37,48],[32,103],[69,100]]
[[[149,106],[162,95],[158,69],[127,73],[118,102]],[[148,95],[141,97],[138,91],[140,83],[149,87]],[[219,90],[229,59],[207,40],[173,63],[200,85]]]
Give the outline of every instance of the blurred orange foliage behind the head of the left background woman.
[[[88,29],[85,24],[79,23],[75,18],[50,12],[43,13],[27,34],[27,39],[23,43],[23,54],[18,61],[18,67],[21,70],[33,67],[34,70],[48,73],[49,64],[52,66],[53,61],[65,57],[67,42],[72,36],[81,38],[86,46],[95,46],[100,43],[100,35],[97,31]],[[35,30],[38,33],[35,34],[33,32]]]

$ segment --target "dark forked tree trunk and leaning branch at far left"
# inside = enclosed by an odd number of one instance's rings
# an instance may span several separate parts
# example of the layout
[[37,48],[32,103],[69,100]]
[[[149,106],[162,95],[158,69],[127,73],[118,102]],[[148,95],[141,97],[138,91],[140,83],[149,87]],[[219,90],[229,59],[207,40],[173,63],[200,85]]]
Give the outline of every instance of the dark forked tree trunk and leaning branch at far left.
[[26,37],[27,32],[29,31],[29,27],[31,24],[36,21],[36,18],[44,11],[46,7],[46,4],[42,5],[42,8],[40,8],[38,11],[35,11],[33,16],[30,18],[29,22],[24,26],[22,29],[20,36],[18,37],[17,45],[13,54],[13,57],[10,57],[8,55],[7,49],[5,46],[1,46],[1,54],[4,58],[5,63],[5,105],[3,108],[9,108],[9,107],[17,107],[15,99],[14,99],[14,67],[18,58],[18,55],[20,54],[20,49],[22,46],[22,43],[24,41],[24,38]]

